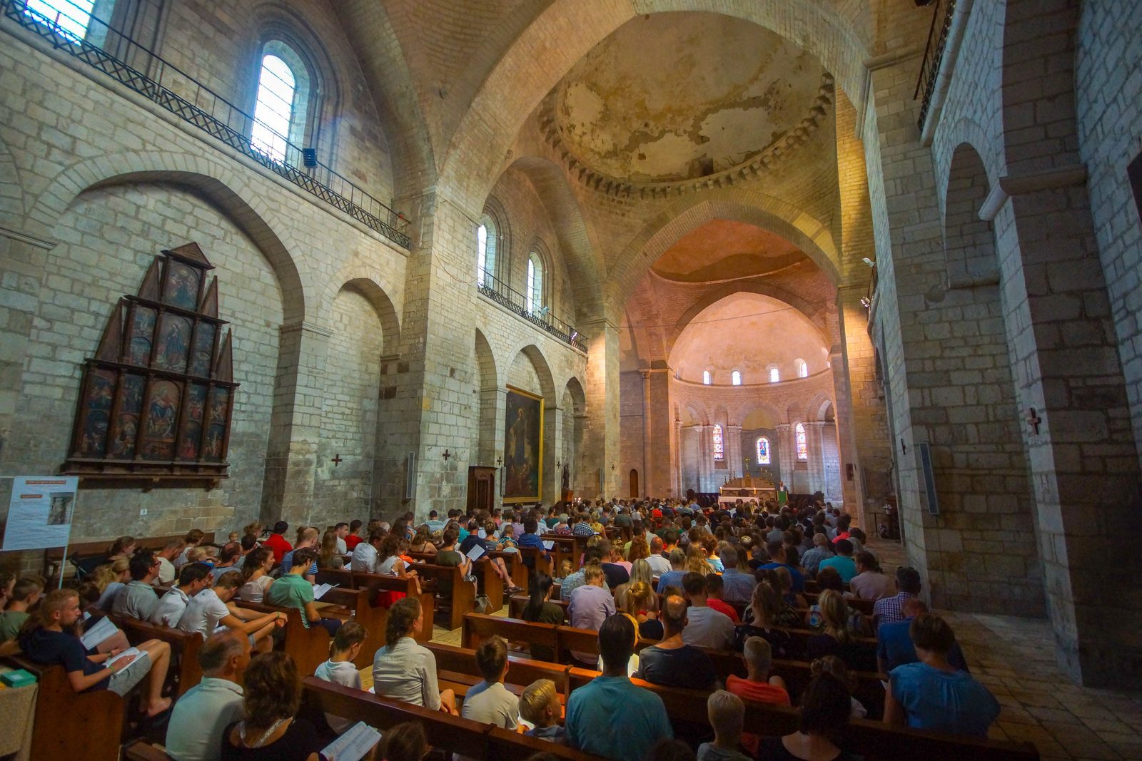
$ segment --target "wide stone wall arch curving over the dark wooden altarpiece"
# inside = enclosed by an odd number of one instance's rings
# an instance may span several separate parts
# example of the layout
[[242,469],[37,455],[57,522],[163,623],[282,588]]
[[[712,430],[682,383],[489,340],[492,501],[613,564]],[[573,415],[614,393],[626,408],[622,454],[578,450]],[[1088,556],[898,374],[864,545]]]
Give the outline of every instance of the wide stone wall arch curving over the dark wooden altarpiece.
[[72,164],[37,196],[27,216],[29,232],[50,238],[56,221],[80,193],[128,183],[166,183],[200,193],[248,235],[270,261],[282,290],[284,324],[306,318],[306,305],[316,299],[298,272],[298,262],[304,259],[290,252],[298,246],[292,245],[288,234],[279,232],[287,229],[286,221],[250,189],[233,165],[201,155],[120,153]]

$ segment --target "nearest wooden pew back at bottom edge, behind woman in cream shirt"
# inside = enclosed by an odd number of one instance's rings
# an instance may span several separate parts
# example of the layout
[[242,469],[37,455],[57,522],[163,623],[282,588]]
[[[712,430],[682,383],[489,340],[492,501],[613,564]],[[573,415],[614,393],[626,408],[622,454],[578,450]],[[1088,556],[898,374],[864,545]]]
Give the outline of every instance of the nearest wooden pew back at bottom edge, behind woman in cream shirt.
[[349,689],[316,677],[307,677],[301,687],[301,713],[319,727],[324,723],[324,713],[349,721],[364,721],[381,731],[405,721],[415,721],[425,726],[425,734],[434,747],[469,759],[524,761],[537,752],[545,752],[568,761],[598,761],[598,756],[564,745],[497,730],[492,724]]

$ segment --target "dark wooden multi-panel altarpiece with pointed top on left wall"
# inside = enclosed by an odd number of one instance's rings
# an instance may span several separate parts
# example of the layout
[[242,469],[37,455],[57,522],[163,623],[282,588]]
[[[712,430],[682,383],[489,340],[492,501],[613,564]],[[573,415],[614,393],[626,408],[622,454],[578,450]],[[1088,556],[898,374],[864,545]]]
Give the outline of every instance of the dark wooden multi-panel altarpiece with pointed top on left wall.
[[83,363],[64,472],[152,485],[227,475],[238,383],[218,278],[207,288],[214,267],[194,243],[162,254]]

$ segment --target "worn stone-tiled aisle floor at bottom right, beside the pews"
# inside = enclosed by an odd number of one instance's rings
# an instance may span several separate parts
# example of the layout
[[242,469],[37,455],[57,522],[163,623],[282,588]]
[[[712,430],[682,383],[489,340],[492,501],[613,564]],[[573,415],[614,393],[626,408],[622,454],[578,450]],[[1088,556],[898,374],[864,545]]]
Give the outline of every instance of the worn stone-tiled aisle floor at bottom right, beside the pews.
[[[885,568],[903,564],[895,542],[872,540],[869,549]],[[956,630],[972,673],[1003,705],[991,737],[1035,743],[1044,759],[1142,760],[1142,691],[1072,685],[1055,663],[1046,620],[941,614]],[[460,630],[437,625],[433,641],[458,646]]]

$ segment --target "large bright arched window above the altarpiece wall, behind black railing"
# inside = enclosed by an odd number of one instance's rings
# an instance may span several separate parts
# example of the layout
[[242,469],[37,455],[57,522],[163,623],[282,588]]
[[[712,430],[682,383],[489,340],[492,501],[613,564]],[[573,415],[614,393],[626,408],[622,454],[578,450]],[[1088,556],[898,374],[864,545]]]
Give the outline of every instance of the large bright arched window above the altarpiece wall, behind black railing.
[[275,161],[300,164],[301,157],[291,155],[288,144],[305,140],[309,89],[309,71],[301,56],[284,42],[267,42],[262,50],[250,147]]

